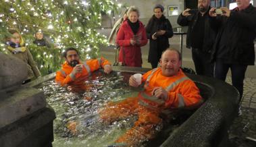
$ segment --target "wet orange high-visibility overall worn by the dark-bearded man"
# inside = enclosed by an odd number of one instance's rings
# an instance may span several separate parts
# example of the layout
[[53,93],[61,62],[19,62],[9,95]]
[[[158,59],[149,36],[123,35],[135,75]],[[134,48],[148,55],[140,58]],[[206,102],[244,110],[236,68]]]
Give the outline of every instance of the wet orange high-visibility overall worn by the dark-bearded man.
[[[71,67],[67,61],[63,63],[62,68],[56,71],[55,82],[60,86],[71,86],[74,91],[86,90],[88,86],[84,85],[84,81],[91,73],[99,68],[103,68],[105,65],[111,65],[107,59],[103,57],[99,59],[90,59],[84,62],[79,61],[79,64],[83,64],[82,73],[72,73],[74,67]],[[77,90],[76,90],[77,89]]]

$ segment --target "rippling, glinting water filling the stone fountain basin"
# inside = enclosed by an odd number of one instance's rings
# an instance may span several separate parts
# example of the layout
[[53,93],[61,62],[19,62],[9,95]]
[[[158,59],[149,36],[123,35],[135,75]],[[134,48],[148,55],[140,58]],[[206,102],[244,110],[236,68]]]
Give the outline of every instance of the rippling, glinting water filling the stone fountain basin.
[[[105,75],[101,71],[93,73],[85,84],[86,91],[70,92],[55,84],[45,82],[41,90],[47,102],[56,112],[54,121],[54,146],[107,146],[129,129],[136,116],[115,121],[101,122],[97,111],[109,101],[119,101],[136,96],[138,90],[128,86],[131,73],[113,72]],[[79,140],[79,141],[78,141]]]

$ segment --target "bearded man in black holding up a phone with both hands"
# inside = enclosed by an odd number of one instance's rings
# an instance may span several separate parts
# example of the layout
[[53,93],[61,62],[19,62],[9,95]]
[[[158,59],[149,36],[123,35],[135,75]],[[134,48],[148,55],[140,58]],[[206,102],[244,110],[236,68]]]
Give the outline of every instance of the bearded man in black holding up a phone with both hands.
[[203,76],[213,76],[210,57],[217,32],[209,26],[209,4],[209,0],[199,0],[198,9],[185,9],[177,20],[180,26],[188,26],[186,47],[192,48],[196,72]]

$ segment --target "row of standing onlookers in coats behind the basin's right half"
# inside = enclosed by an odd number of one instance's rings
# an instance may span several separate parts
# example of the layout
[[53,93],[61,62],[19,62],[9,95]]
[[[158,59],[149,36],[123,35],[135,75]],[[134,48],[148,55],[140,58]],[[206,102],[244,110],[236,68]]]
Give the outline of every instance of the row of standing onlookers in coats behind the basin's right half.
[[[236,0],[236,4],[232,10],[216,9],[209,0],[199,0],[198,9],[185,9],[177,23],[188,26],[186,47],[192,51],[196,73],[225,81],[230,69],[232,85],[241,98],[245,71],[255,62],[256,8],[249,0]],[[149,39],[148,61],[152,68],[157,67],[161,53],[170,46],[168,38],[173,36],[163,11],[162,5],[155,5],[154,15],[144,28],[138,9],[132,6],[114,25],[109,42],[116,42],[120,49],[122,65],[141,67],[140,47]]]

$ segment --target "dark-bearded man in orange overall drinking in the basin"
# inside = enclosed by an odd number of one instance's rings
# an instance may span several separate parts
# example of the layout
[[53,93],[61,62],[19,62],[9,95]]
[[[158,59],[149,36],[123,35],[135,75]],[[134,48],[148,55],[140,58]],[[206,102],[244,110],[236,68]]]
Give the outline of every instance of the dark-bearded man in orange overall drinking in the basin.
[[66,61],[62,68],[56,72],[55,82],[60,86],[70,86],[75,92],[86,90],[88,86],[84,84],[84,81],[91,75],[91,72],[101,67],[105,73],[112,71],[111,63],[103,57],[80,61],[78,51],[74,48],[66,49],[63,56]]

